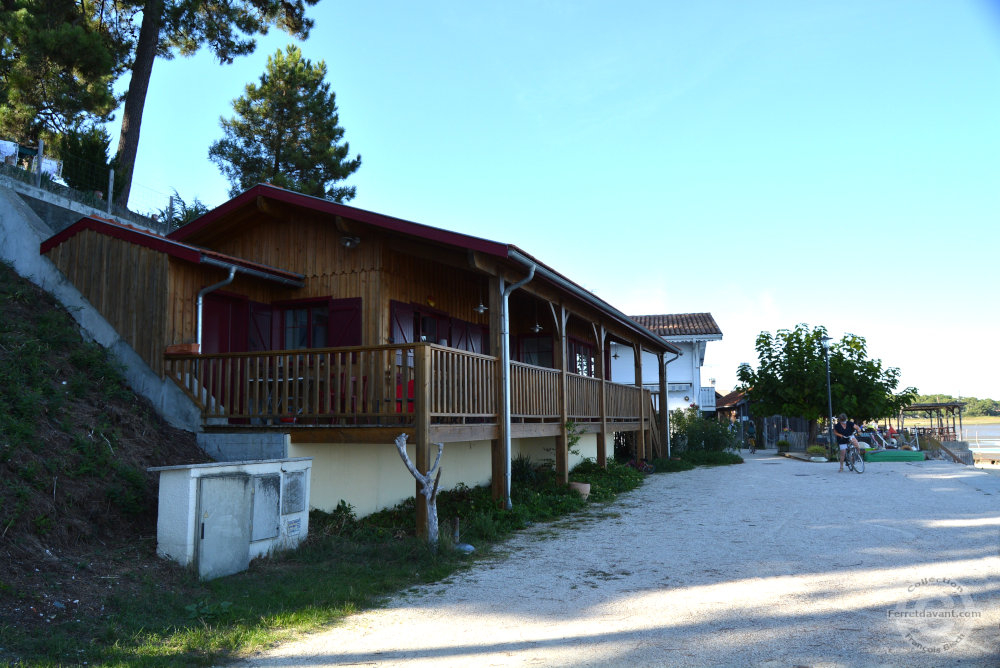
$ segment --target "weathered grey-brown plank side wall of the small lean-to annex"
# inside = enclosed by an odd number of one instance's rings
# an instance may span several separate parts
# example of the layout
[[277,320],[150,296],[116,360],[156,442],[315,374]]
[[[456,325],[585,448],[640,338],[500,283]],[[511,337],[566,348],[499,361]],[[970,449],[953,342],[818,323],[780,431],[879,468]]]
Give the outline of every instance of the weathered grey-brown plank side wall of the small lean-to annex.
[[158,374],[167,329],[167,256],[83,230],[48,257]]

